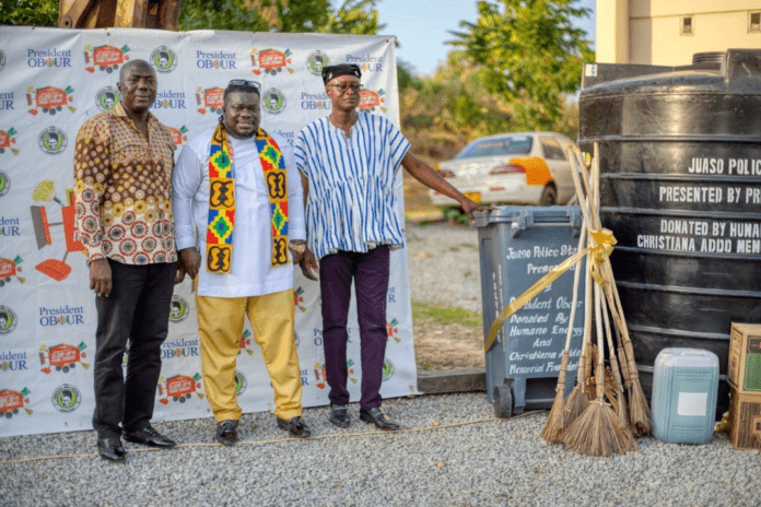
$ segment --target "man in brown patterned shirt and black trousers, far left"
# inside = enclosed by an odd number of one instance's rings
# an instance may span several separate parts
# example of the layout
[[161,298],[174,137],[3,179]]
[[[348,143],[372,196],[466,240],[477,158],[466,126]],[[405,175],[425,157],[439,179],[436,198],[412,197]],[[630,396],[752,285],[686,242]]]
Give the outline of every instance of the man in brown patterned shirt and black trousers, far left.
[[174,283],[184,272],[176,269],[171,201],[174,143],[149,111],[156,74],[148,62],[132,60],[121,68],[117,86],[121,102],[77,134],[74,189],[96,294],[93,427],[101,457],[124,461],[122,433],[138,444],[175,445],[150,421]]

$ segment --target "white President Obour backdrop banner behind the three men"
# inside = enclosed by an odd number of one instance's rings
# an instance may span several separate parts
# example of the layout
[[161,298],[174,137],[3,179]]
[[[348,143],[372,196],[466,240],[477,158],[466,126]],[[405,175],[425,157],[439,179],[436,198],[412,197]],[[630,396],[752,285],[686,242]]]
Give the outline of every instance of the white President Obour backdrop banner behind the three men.
[[[92,428],[95,296],[74,233],[73,152],[80,126],[120,101],[119,69],[131,59],[156,70],[152,113],[172,130],[175,153],[216,123],[231,79],[261,84],[262,127],[293,143],[304,125],[329,114],[320,69],[342,62],[362,69],[360,107],[399,125],[393,37],[0,26],[0,437]],[[401,178],[396,191],[401,215]],[[319,284],[296,271],[303,404],[323,405]],[[349,390],[356,401],[362,372],[353,302],[350,311]],[[169,319],[154,421],[211,416],[189,280],[175,286]],[[380,392],[417,393],[405,249],[391,254],[387,328]],[[237,394],[244,412],[274,408],[248,322]]]

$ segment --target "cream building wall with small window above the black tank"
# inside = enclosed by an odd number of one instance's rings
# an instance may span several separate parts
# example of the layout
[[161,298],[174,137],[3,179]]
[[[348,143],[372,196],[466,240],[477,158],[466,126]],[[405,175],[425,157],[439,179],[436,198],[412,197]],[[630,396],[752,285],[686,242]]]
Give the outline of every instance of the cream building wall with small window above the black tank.
[[[761,0],[597,0],[598,62],[683,66],[694,52],[760,48]],[[683,19],[692,34],[682,35]]]

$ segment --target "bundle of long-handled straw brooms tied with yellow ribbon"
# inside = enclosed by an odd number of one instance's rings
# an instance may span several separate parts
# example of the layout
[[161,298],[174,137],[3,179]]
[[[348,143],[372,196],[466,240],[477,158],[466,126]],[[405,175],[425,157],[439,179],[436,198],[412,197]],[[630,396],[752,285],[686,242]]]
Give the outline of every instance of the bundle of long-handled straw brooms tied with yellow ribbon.
[[[595,143],[592,175],[586,169],[581,153],[569,149],[569,155],[578,205],[584,215],[578,247],[579,251],[583,250],[586,240],[588,248],[584,273],[584,335],[576,386],[565,398],[565,375],[573,332],[573,326],[569,326],[555,399],[541,436],[549,441],[562,441],[584,455],[607,457],[613,452],[636,450],[634,437],[649,434],[652,424],[608,259],[614,240],[612,234],[600,225],[599,145]],[[574,278],[571,322],[575,318],[581,271],[576,269]],[[592,342],[593,313],[596,345]],[[614,327],[611,327],[611,318]],[[613,331],[618,346],[613,344]],[[608,368],[605,366],[606,353]]]

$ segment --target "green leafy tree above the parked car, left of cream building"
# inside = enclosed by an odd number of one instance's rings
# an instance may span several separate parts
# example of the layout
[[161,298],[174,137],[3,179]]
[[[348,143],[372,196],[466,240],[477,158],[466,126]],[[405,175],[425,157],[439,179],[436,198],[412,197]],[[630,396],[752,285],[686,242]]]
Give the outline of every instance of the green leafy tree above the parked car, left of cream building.
[[578,0],[479,1],[476,23],[452,32],[466,57],[481,68],[488,91],[514,104],[513,121],[551,130],[565,110],[564,94],[576,92],[582,63],[593,61],[586,32],[572,21],[589,15]]

